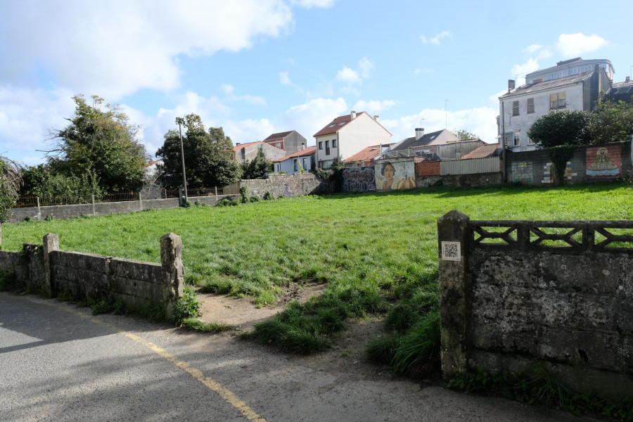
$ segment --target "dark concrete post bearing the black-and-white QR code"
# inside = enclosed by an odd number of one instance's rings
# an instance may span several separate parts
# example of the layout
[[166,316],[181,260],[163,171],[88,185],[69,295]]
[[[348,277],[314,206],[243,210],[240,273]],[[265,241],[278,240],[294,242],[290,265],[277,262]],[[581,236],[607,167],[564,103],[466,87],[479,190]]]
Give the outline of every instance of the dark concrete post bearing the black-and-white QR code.
[[470,218],[452,210],[437,220],[440,255],[440,321],[442,376],[468,369],[469,324],[471,316],[468,270]]

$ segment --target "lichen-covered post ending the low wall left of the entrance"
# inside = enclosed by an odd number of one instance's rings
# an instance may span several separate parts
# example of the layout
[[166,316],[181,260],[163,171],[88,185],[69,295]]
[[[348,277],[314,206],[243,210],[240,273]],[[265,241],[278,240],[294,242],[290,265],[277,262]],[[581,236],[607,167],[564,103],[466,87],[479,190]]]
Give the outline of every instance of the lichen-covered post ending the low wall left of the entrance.
[[160,264],[162,265],[162,300],[165,317],[172,319],[174,305],[182,298],[184,267],[182,264],[182,239],[167,233],[160,238]]

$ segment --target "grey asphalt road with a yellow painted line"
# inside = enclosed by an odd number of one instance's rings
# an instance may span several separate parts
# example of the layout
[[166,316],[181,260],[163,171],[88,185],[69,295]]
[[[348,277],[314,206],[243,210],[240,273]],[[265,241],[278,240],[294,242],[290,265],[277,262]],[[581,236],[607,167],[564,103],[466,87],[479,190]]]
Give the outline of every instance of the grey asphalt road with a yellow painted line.
[[0,421],[596,421],[0,293]]

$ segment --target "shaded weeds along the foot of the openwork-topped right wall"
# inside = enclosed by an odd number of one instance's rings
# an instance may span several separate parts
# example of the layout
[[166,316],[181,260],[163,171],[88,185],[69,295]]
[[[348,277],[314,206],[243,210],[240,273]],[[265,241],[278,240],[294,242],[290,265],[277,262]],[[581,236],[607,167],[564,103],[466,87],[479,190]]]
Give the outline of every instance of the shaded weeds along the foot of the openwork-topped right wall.
[[449,381],[463,392],[492,393],[535,406],[557,407],[575,416],[591,412],[620,421],[633,421],[633,398],[610,400],[594,392],[577,392],[563,385],[541,364],[525,373],[491,373],[477,366]]

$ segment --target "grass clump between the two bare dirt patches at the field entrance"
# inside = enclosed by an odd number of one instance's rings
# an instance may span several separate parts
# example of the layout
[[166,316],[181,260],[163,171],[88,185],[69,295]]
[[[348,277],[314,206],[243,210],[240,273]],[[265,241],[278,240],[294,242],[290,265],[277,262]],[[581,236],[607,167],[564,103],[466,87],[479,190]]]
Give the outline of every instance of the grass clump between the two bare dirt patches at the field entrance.
[[331,346],[333,334],[345,327],[345,319],[384,309],[385,300],[376,288],[328,290],[303,305],[298,301],[290,302],[283,312],[256,324],[248,337],[284,352],[321,352]]

